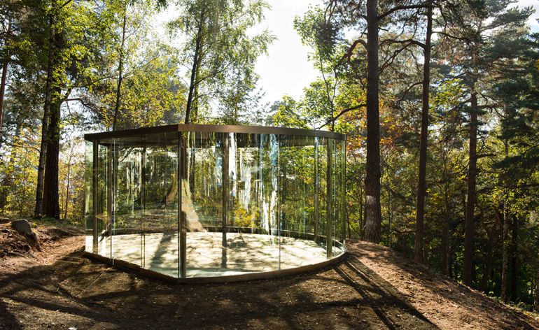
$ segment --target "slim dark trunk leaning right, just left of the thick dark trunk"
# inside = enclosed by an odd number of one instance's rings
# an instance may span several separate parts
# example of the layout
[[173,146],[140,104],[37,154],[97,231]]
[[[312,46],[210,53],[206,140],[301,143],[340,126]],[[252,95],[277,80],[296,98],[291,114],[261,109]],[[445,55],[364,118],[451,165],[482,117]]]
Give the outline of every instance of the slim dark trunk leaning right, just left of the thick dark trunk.
[[52,79],[55,66],[55,21],[54,13],[49,18],[48,54],[47,54],[47,80],[45,82],[45,105],[43,106],[43,120],[41,124],[41,145],[39,148],[39,162],[36,185],[36,208],[34,216],[39,217],[43,210],[43,175],[45,173],[45,155],[47,154],[48,121],[51,102]]

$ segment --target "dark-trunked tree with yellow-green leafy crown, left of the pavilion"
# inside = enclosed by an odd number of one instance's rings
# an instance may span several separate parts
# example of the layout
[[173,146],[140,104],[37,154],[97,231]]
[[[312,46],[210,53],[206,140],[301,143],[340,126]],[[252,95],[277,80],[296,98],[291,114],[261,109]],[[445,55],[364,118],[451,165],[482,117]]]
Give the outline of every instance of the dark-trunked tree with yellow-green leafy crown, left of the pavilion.
[[[102,11],[85,1],[29,3],[29,22],[25,33],[43,59],[41,72],[46,76],[43,92],[41,148],[36,185],[34,215],[59,218],[58,157],[62,127],[62,104],[74,89],[91,85],[95,50],[106,42],[99,29],[107,24]],[[90,27],[94,28],[91,29]],[[36,34],[36,29],[41,34]],[[40,62],[38,62],[40,63]]]

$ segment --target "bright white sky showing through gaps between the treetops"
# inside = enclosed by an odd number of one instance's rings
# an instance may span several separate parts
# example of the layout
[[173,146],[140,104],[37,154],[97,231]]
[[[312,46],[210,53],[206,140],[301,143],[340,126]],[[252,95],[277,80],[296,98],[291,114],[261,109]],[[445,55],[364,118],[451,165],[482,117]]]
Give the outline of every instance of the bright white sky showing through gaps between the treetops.
[[[302,15],[309,6],[321,5],[322,0],[268,0],[272,9],[267,11],[265,20],[255,30],[269,29],[277,38],[269,46],[268,55],[258,59],[256,71],[260,75],[259,86],[265,92],[262,103],[280,100],[285,94],[299,99],[303,88],[316,79],[318,72],[307,61],[309,48],[303,46],[293,29],[296,15]],[[539,0],[519,0],[518,6],[533,6],[536,13],[529,20],[534,31],[539,31]],[[159,22],[174,17],[167,13],[159,17]]]

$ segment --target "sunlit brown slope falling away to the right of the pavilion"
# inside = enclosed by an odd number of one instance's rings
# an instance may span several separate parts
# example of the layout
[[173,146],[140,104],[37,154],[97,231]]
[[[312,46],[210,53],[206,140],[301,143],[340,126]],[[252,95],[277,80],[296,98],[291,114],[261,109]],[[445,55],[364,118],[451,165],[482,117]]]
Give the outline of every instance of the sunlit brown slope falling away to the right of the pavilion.
[[440,329],[539,329],[526,315],[416,264],[388,247],[349,241],[349,252]]

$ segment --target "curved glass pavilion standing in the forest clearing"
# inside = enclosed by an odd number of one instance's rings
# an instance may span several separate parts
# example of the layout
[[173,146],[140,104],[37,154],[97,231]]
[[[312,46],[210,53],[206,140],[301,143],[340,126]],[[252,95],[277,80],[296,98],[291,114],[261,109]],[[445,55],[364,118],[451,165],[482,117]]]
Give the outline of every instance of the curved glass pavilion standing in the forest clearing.
[[85,254],[179,282],[344,255],[345,136],[174,124],[86,134]]

